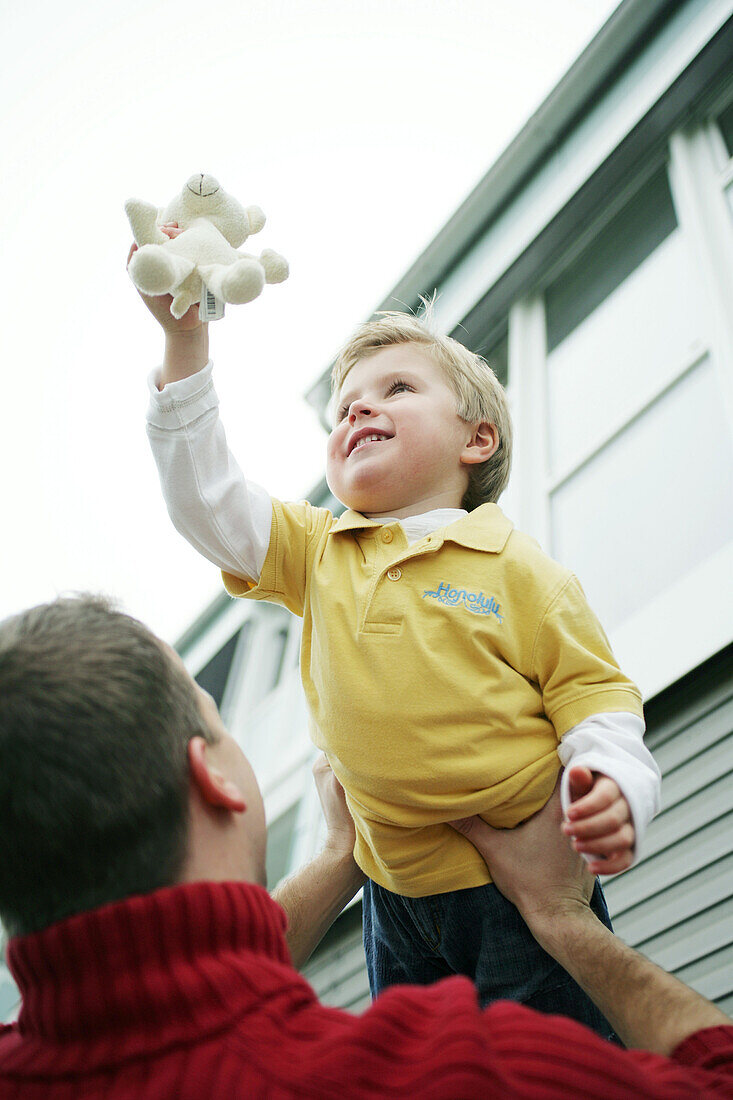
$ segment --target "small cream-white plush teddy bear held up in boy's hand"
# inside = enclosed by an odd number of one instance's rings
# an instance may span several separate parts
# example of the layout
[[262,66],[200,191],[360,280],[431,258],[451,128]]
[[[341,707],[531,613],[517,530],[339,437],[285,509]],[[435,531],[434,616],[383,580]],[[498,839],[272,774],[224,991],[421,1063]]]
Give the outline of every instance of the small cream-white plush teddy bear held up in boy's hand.
[[[220,301],[241,304],[256,298],[265,283],[287,278],[287,261],[272,249],[259,256],[237,251],[260,232],[265,216],[260,207],[244,209],[214,176],[192,176],[165,209],[129,199],[124,210],[139,245],[130,277],[142,294],[173,295],[176,318],[200,301],[204,286]],[[173,239],[158,228],[172,221],[182,230]]]

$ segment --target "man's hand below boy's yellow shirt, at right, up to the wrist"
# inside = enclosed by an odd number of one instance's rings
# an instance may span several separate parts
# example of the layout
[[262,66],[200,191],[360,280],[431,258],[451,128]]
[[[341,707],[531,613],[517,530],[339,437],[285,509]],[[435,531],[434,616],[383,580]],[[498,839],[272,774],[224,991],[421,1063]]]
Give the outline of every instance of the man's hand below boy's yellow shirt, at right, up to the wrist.
[[541,923],[557,922],[569,911],[589,910],[593,892],[594,876],[566,842],[561,821],[558,784],[539,813],[516,828],[491,828],[481,817],[450,823],[478,849],[495,886],[535,935],[535,926]]

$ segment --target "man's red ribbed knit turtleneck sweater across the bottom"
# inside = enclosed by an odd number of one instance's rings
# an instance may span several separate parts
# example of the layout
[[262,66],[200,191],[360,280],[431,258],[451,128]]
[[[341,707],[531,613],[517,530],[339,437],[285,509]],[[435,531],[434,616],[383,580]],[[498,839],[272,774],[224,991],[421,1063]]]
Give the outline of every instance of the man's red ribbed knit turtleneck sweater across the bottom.
[[11,941],[0,1098],[733,1097],[733,1026],[671,1059],[623,1052],[522,1005],[481,1012],[463,978],[353,1016],[319,1004],[284,927],[260,887],[199,882]]

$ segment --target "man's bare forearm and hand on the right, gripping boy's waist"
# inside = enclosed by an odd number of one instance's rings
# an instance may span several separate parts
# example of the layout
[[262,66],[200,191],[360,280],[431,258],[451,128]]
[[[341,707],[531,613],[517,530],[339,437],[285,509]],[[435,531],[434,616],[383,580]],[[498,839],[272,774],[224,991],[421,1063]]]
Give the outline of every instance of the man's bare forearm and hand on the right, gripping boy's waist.
[[704,1027],[730,1025],[714,1004],[622,943],[589,906],[594,879],[560,832],[558,791],[515,829],[478,817],[453,823],[486,860],[537,942],[595,1002],[631,1047],[670,1055]]

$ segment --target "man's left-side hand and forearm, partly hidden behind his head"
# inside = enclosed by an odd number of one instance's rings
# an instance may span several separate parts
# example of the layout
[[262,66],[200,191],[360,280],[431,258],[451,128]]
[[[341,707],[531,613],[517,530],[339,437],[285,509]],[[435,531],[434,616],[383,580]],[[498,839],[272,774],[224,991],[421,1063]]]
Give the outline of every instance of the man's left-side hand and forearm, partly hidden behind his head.
[[364,875],[353,858],[357,837],[341,784],[322,755],[313,771],[328,825],[326,846],[272,892],[287,913],[285,938],[293,965],[298,968],[364,883]]

